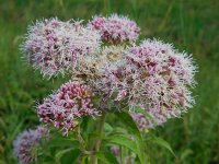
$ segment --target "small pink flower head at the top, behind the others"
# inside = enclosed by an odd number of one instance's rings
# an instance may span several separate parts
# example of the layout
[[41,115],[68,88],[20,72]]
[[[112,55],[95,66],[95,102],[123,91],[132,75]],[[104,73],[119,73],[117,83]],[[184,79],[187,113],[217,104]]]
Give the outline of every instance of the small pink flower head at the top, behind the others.
[[113,44],[135,42],[140,33],[136,22],[117,14],[108,17],[94,16],[88,26],[99,31],[103,42]]

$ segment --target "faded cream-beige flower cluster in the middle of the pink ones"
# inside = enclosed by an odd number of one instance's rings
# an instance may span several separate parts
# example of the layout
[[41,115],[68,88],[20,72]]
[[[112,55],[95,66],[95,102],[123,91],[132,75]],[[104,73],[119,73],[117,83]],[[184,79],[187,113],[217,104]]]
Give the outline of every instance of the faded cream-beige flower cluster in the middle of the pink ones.
[[103,69],[122,60],[125,51],[125,46],[104,46],[97,54],[84,56],[78,67],[71,70],[72,79],[85,82],[100,93],[99,82],[104,75]]

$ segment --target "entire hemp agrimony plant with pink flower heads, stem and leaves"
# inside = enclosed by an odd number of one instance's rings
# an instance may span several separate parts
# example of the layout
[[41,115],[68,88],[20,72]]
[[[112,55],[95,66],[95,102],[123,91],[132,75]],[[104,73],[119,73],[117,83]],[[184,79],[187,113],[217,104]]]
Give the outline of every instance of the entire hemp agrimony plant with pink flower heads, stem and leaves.
[[196,66],[171,44],[137,44],[139,34],[117,14],[28,26],[21,47],[30,65],[48,80],[71,78],[37,104],[42,125],[15,139],[20,163],[145,164],[148,143],[172,152],[150,129],[194,105]]

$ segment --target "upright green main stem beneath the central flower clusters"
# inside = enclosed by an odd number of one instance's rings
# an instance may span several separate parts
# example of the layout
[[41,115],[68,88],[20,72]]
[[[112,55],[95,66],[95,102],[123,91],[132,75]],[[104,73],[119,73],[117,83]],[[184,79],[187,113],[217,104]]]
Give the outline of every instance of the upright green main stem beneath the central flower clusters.
[[[103,126],[104,126],[105,120],[106,120],[106,113],[103,112],[103,115],[102,115],[101,121],[100,121],[100,126],[97,129],[99,139],[96,140],[95,145],[94,145],[95,152],[99,152],[100,148],[101,148],[102,131],[103,131]],[[95,154],[91,156],[91,164],[97,164],[97,159],[96,159]]]

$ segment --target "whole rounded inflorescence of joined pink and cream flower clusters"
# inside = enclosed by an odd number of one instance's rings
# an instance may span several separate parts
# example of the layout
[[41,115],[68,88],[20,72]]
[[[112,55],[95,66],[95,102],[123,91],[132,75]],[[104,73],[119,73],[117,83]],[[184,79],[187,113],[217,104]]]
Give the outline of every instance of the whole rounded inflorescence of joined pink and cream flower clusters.
[[141,130],[180,117],[193,106],[196,67],[189,55],[158,39],[136,44],[140,28],[127,16],[81,22],[43,20],[26,34],[22,49],[33,67],[49,78],[71,75],[37,106],[41,121],[68,134],[79,118],[103,112],[100,104],[92,106],[93,94],[104,101],[110,97],[114,108],[129,108]]

